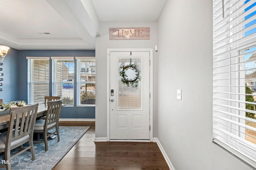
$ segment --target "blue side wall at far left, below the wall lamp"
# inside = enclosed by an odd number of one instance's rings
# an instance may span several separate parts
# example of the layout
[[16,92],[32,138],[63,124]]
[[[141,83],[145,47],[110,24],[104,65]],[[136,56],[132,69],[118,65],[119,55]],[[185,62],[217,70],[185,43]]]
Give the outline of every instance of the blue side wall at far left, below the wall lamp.
[[0,92],[0,98],[3,99],[3,102],[11,102],[18,99],[18,91],[22,91],[23,87],[21,87],[18,83],[18,76],[21,74],[27,74],[26,72],[18,71],[18,50],[10,48],[8,53],[6,54],[0,68],[3,68],[0,73],[4,73],[3,81],[0,81],[3,85],[0,88],[3,91]]

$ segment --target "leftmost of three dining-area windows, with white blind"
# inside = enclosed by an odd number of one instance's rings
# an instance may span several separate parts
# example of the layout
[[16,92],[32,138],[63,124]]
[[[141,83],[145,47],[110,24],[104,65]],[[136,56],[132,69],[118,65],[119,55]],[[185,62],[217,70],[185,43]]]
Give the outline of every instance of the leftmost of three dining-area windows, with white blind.
[[28,104],[44,103],[49,96],[49,57],[28,59]]

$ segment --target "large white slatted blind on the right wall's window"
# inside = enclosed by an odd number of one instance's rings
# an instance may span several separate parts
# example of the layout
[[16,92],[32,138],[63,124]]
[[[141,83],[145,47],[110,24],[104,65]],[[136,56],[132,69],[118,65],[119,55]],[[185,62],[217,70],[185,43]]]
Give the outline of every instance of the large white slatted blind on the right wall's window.
[[213,141],[256,168],[256,1],[213,1]]

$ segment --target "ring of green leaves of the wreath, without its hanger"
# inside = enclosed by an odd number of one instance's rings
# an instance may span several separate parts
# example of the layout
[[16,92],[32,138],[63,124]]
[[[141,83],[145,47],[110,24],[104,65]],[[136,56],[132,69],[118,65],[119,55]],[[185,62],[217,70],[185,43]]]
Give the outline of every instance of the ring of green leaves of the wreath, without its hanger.
[[[127,77],[126,71],[128,69],[132,69],[135,72],[135,78],[134,79],[129,79]],[[123,65],[120,67],[120,72],[119,75],[122,77],[121,81],[126,84],[127,86],[131,85],[131,86],[135,86],[138,87],[138,84],[140,82],[140,70],[137,68],[137,66],[135,64],[129,64],[129,65]]]

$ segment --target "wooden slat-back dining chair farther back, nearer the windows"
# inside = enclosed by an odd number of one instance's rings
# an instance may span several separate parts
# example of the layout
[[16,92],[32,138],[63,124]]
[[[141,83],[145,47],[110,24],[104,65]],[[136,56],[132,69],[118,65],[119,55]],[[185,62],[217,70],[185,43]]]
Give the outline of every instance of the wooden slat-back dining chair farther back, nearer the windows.
[[[58,142],[60,141],[60,134],[59,134],[59,118],[60,118],[60,111],[62,108],[62,100],[55,100],[48,102],[48,109],[46,112],[45,119],[39,119],[35,123],[34,133],[38,133],[38,137],[34,143],[44,143],[45,151],[48,150],[48,141],[47,138],[51,135],[57,135]],[[50,129],[55,128],[55,131],[51,131],[47,133]],[[44,141],[40,141],[40,133],[43,133]]]

